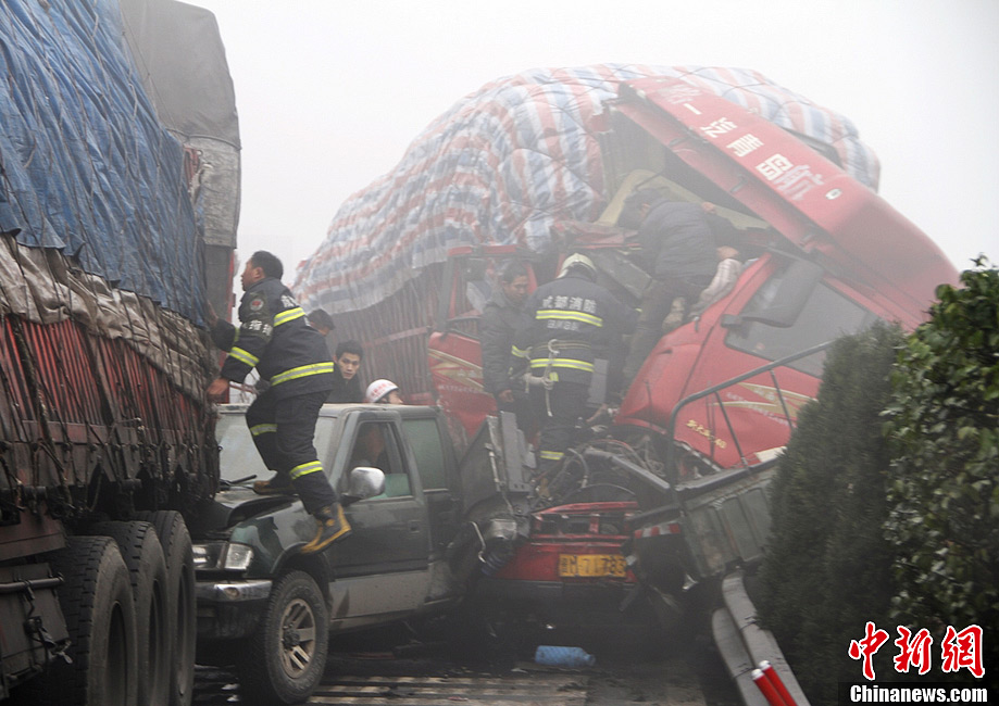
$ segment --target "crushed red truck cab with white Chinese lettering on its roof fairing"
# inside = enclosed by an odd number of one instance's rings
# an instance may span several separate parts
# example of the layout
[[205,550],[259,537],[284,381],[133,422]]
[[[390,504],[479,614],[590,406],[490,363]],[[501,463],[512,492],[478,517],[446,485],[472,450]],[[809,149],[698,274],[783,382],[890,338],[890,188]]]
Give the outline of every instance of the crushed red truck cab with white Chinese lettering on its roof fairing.
[[[911,328],[935,288],[957,281],[937,245],[874,191],[801,136],[713,93],[673,78],[628,81],[609,125],[604,161],[617,175],[608,180],[622,188],[598,224],[557,229],[563,254],[587,251],[601,283],[637,305],[644,281],[637,249],[613,218],[615,204],[620,212],[627,191],[641,184],[634,176],[646,174],[644,188],[665,185],[673,198],[721,204],[754,244],[735,288],[660,340],[624,396],[616,426],[675,434],[721,468],[764,461],[783,447],[798,408],[814,396],[821,353],[691,403],[671,421],[677,404],[875,319]],[[524,253],[512,245],[452,250],[441,286],[447,300],[429,341],[430,370],[439,403],[469,436],[495,409],[482,388],[477,316],[496,281],[489,273],[513,256]],[[619,266],[624,259],[630,268]]]

